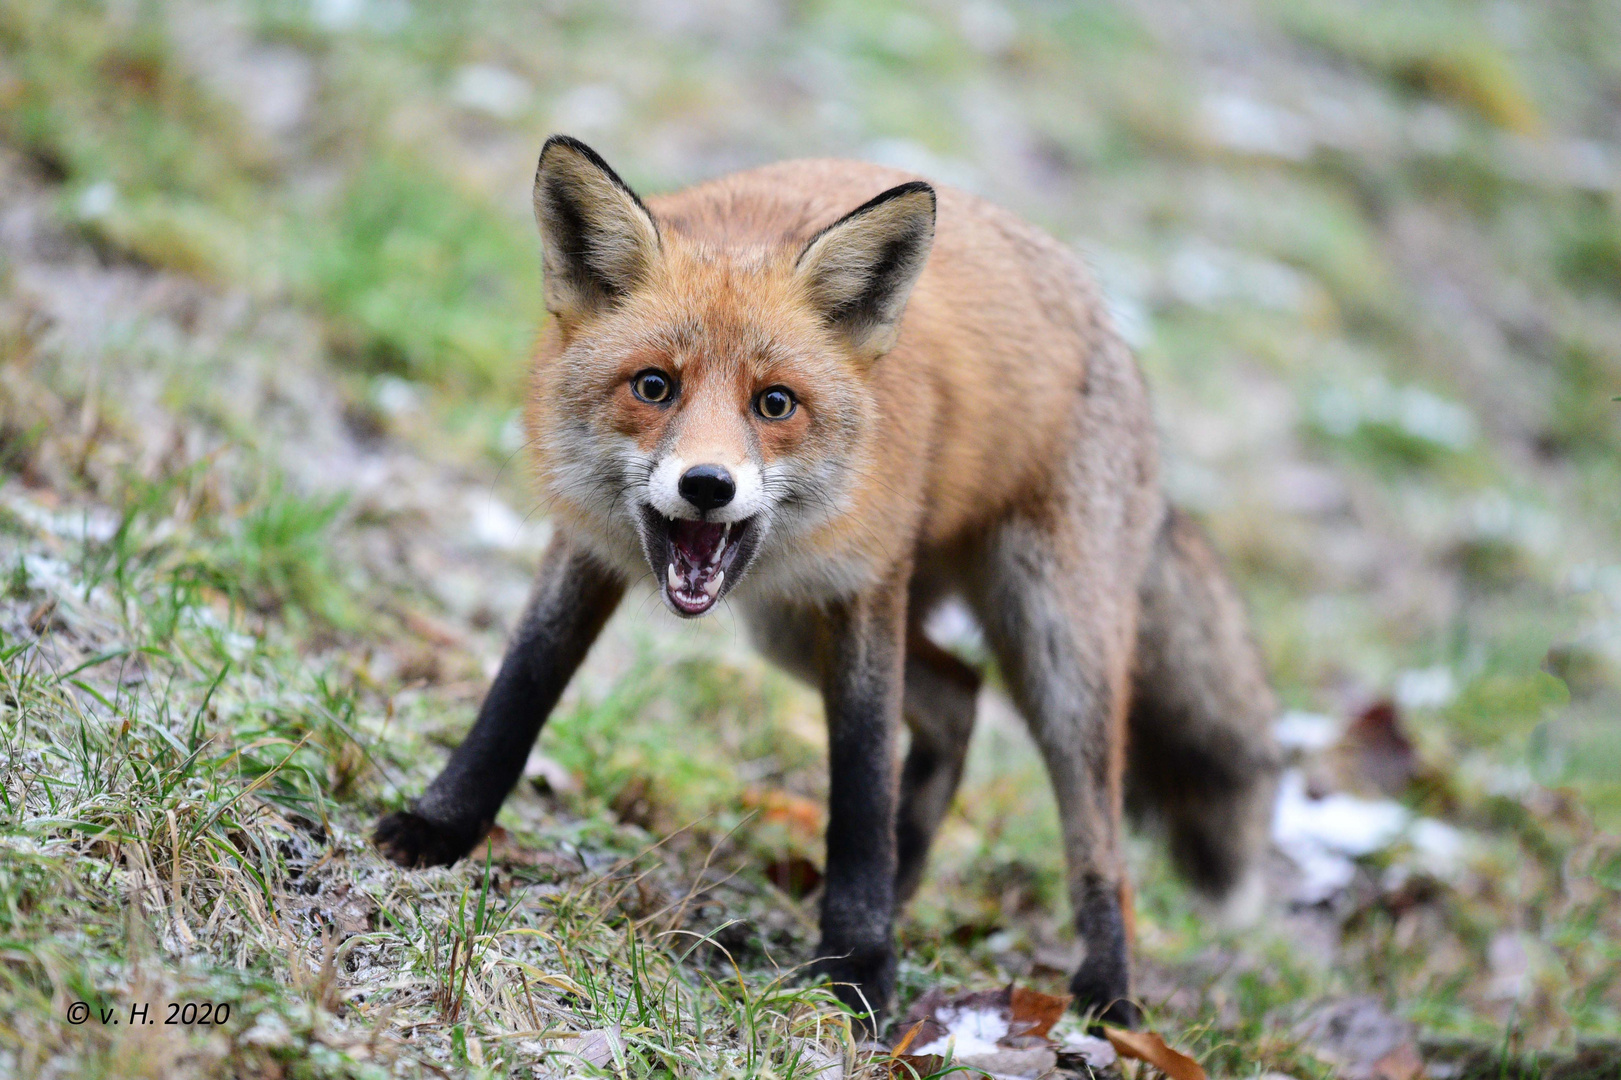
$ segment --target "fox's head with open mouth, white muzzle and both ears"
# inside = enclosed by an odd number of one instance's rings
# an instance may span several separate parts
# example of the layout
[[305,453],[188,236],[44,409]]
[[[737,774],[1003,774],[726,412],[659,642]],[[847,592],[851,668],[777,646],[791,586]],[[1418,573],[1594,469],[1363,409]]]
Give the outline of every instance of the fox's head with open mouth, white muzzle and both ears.
[[[827,566],[872,472],[872,368],[934,242],[927,183],[806,237],[728,243],[660,221],[585,144],[535,174],[546,337],[527,410],[553,514],[694,618],[746,576],[794,592]],[[882,462],[877,462],[882,469]],[[836,545],[833,545],[836,546]]]

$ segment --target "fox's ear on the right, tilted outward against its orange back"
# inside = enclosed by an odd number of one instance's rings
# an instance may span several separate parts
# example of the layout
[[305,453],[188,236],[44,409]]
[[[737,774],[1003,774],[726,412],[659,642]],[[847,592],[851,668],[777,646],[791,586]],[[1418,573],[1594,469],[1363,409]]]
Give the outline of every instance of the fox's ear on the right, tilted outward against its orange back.
[[810,302],[856,352],[879,357],[895,347],[932,243],[934,188],[914,180],[810,237],[794,269]]

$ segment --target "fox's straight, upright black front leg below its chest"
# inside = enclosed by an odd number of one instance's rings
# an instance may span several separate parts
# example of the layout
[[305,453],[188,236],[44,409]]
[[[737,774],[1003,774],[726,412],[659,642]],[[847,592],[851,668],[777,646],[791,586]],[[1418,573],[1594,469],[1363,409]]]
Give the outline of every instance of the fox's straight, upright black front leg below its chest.
[[812,975],[877,1028],[895,989],[895,733],[906,589],[835,605],[823,623],[828,723],[827,877]]

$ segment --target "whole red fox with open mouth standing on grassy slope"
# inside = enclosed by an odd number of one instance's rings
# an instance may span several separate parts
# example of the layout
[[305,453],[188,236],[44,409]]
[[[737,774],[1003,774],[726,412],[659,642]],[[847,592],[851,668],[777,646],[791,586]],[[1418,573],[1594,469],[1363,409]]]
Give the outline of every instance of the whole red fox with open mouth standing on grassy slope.
[[1076,1005],[1135,1023],[1127,801],[1227,897],[1263,851],[1279,759],[1242,605],[1164,499],[1143,379],[1078,259],[856,162],[644,203],[567,136],[540,154],[535,217],[551,318],[525,423],[556,535],[477,723],[376,843],[433,866],[483,837],[631,584],[687,618],[729,597],[822,691],[812,971],[875,1025],[974,725],[981,673],[921,629],[958,597],[1057,795]]

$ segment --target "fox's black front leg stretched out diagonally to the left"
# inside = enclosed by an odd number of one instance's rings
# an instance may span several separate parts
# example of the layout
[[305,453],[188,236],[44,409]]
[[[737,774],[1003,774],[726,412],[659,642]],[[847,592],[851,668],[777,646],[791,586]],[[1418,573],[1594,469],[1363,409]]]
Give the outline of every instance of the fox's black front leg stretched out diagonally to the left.
[[400,866],[449,866],[494,824],[540,726],[613,615],[624,584],[561,532],[541,558],[517,634],[473,730],[408,811],[373,840]]

